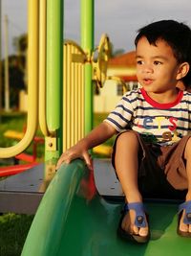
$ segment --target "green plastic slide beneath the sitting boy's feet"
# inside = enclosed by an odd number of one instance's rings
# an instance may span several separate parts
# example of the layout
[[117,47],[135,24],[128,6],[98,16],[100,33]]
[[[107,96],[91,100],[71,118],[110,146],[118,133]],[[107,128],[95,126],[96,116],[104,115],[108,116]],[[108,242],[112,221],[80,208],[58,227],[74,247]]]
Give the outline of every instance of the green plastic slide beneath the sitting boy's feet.
[[127,243],[116,233],[122,202],[100,197],[90,181],[81,160],[60,168],[41,200],[22,256],[190,255],[191,240],[176,232],[177,203],[146,202],[151,240]]

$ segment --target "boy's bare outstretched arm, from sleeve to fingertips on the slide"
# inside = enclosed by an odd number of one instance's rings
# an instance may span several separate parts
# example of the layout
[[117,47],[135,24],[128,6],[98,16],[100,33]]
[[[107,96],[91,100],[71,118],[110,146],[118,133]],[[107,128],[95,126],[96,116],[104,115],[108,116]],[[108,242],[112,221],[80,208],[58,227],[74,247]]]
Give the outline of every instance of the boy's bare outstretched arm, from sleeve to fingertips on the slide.
[[109,125],[107,122],[102,122],[99,126],[94,128],[87,136],[78,141],[71,149],[62,153],[58,159],[56,169],[60,165],[70,163],[75,158],[83,158],[89,169],[93,169],[91,156],[88,150],[93,149],[97,145],[105,142],[111,138],[117,130]]

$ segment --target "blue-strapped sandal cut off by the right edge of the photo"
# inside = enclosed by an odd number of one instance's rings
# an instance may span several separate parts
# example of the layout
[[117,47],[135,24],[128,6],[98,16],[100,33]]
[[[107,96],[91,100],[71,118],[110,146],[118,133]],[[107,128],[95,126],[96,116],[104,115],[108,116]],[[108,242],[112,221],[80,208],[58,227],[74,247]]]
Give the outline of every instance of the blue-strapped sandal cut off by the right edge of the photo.
[[177,227],[177,233],[181,237],[191,238],[191,233],[190,232],[184,232],[184,231],[180,230],[180,219],[181,219],[183,210],[185,210],[185,216],[183,218],[183,223],[184,224],[191,224],[191,200],[185,201],[185,202],[180,204],[179,212],[178,212],[178,214],[179,214],[179,221],[178,221],[178,227]]

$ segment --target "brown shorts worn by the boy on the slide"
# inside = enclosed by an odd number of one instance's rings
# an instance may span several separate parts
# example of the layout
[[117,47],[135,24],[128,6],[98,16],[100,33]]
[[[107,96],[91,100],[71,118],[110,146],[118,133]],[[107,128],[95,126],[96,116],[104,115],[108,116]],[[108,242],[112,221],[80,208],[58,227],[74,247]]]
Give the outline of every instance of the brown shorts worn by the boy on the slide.
[[[172,146],[159,146],[146,144],[138,132],[128,130],[125,132],[134,132],[138,136],[138,186],[140,192],[153,197],[164,197],[168,194],[180,195],[180,191],[185,195],[187,189],[187,175],[185,171],[185,160],[183,152],[190,136],[184,136],[179,142]],[[115,168],[115,153],[117,135],[112,154],[112,163]],[[116,168],[115,168],[116,169]]]

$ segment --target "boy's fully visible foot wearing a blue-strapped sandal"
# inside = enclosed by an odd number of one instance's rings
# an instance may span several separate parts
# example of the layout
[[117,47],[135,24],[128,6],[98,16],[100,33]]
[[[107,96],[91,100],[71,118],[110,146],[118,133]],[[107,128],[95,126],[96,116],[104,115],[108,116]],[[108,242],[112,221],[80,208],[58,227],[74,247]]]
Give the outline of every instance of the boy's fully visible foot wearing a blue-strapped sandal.
[[125,204],[117,231],[125,240],[148,242],[150,233],[142,202]]

